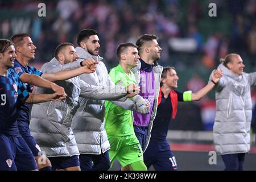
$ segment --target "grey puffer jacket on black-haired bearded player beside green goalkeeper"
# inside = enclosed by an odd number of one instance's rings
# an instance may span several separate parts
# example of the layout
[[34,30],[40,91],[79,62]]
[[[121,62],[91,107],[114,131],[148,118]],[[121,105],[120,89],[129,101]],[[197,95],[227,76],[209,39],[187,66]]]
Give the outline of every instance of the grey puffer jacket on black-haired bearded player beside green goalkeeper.
[[[105,64],[101,61],[100,56],[92,56],[85,49],[76,47],[79,57],[87,59],[92,57],[98,60],[96,72],[90,74],[82,74],[79,77],[89,85],[110,86],[115,88],[111,81]],[[104,99],[95,100],[88,98],[79,98],[80,107],[72,120],[72,129],[76,137],[77,146],[80,154],[102,154],[110,149],[110,144],[105,130],[105,100],[125,101],[121,99]],[[129,99],[125,102],[114,102],[115,104],[130,109],[133,102]]]

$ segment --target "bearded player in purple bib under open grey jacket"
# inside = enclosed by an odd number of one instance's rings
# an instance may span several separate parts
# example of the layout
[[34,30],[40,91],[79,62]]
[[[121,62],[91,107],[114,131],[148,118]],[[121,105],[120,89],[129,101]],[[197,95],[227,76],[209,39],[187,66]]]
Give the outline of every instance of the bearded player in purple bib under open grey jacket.
[[150,140],[150,131],[156,115],[160,78],[163,67],[158,64],[162,48],[158,44],[158,37],[155,35],[142,35],[136,42],[138,46],[138,66],[133,68],[137,84],[141,87],[139,93],[145,100],[150,102],[149,114],[133,112],[134,131],[145,151]]

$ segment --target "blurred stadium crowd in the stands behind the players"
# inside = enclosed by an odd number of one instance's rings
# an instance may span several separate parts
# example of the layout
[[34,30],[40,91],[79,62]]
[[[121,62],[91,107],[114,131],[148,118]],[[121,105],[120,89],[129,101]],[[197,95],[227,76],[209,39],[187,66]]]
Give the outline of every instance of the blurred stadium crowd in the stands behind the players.
[[[41,2],[46,4],[45,17],[38,16]],[[212,2],[217,5],[216,17],[208,14]],[[163,48],[160,64],[176,67],[180,90],[197,92],[220,57],[230,52],[241,55],[246,72],[256,70],[255,0],[0,1],[0,7],[0,37],[28,32],[37,47],[34,64],[39,68],[51,60],[58,44],[72,42],[76,46],[77,33],[93,28],[99,32],[100,55],[109,70],[118,64],[115,50],[119,43],[135,43],[142,34],[158,35]],[[252,90],[255,104],[255,88]],[[192,130],[212,130],[213,98],[211,92],[190,107],[181,104],[177,119],[184,123],[171,129],[191,130],[195,126],[191,120],[200,120],[202,125]],[[187,109],[191,115],[199,114],[184,118]],[[253,125],[256,128],[255,121]]]

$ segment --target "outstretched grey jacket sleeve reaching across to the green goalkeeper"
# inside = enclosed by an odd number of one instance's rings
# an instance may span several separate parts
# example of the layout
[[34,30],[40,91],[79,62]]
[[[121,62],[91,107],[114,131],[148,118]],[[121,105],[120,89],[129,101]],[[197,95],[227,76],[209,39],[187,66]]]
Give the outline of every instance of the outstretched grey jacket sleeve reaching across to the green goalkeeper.
[[93,100],[125,101],[127,99],[124,86],[95,86],[80,80],[80,96]]

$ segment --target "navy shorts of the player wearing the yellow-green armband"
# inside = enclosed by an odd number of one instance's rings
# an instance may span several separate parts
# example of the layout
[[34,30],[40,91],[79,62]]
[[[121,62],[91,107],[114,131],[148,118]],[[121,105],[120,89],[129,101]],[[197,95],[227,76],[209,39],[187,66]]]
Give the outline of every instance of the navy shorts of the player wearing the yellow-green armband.
[[156,171],[176,171],[177,163],[170,146],[165,141],[150,140],[146,151],[143,154],[144,163],[149,169],[151,165]]

